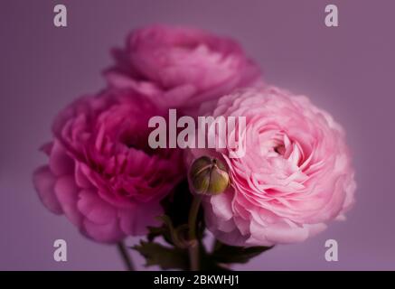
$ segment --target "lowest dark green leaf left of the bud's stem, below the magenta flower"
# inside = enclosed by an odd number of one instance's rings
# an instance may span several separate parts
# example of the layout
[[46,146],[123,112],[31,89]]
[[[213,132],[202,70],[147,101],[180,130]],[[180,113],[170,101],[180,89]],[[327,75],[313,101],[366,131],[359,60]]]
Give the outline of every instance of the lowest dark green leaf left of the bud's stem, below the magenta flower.
[[146,258],[146,266],[160,266],[162,269],[188,270],[188,251],[177,247],[165,247],[154,242],[141,241],[133,247]]

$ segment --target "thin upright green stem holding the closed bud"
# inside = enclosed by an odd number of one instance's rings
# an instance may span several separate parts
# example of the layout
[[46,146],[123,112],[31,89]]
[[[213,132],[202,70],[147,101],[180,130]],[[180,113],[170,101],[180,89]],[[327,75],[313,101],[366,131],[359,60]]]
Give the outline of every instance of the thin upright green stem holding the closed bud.
[[194,196],[191,210],[189,211],[188,227],[189,227],[189,260],[191,271],[199,270],[199,241],[197,240],[196,219],[202,202],[202,196]]

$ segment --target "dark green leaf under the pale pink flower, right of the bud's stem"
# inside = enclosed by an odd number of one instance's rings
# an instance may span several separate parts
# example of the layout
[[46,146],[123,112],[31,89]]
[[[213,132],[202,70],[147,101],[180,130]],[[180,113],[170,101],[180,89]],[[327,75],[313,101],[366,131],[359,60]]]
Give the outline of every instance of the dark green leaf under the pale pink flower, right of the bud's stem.
[[237,247],[216,241],[212,258],[218,263],[247,263],[250,258],[271,249],[272,247]]

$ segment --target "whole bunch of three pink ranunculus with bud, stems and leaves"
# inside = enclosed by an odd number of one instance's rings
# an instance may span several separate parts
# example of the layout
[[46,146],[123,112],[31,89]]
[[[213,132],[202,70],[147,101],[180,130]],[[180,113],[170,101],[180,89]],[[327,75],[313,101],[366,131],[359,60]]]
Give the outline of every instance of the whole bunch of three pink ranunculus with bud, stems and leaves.
[[107,88],[55,118],[33,183],[129,269],[129,236],[146,266],[230,270],[344,219],[356,186],[342,126],[266,83],[237,42],[155,25],[112,55]]

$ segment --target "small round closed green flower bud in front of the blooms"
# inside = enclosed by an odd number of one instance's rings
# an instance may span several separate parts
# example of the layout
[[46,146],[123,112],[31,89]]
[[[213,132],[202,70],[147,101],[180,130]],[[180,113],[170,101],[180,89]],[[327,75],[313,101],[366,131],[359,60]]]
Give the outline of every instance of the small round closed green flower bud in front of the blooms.
[[224,163],[208,156],[193,161],[189,178],[194,192],[205,195],[218,195],[225,191],[230,183]]

